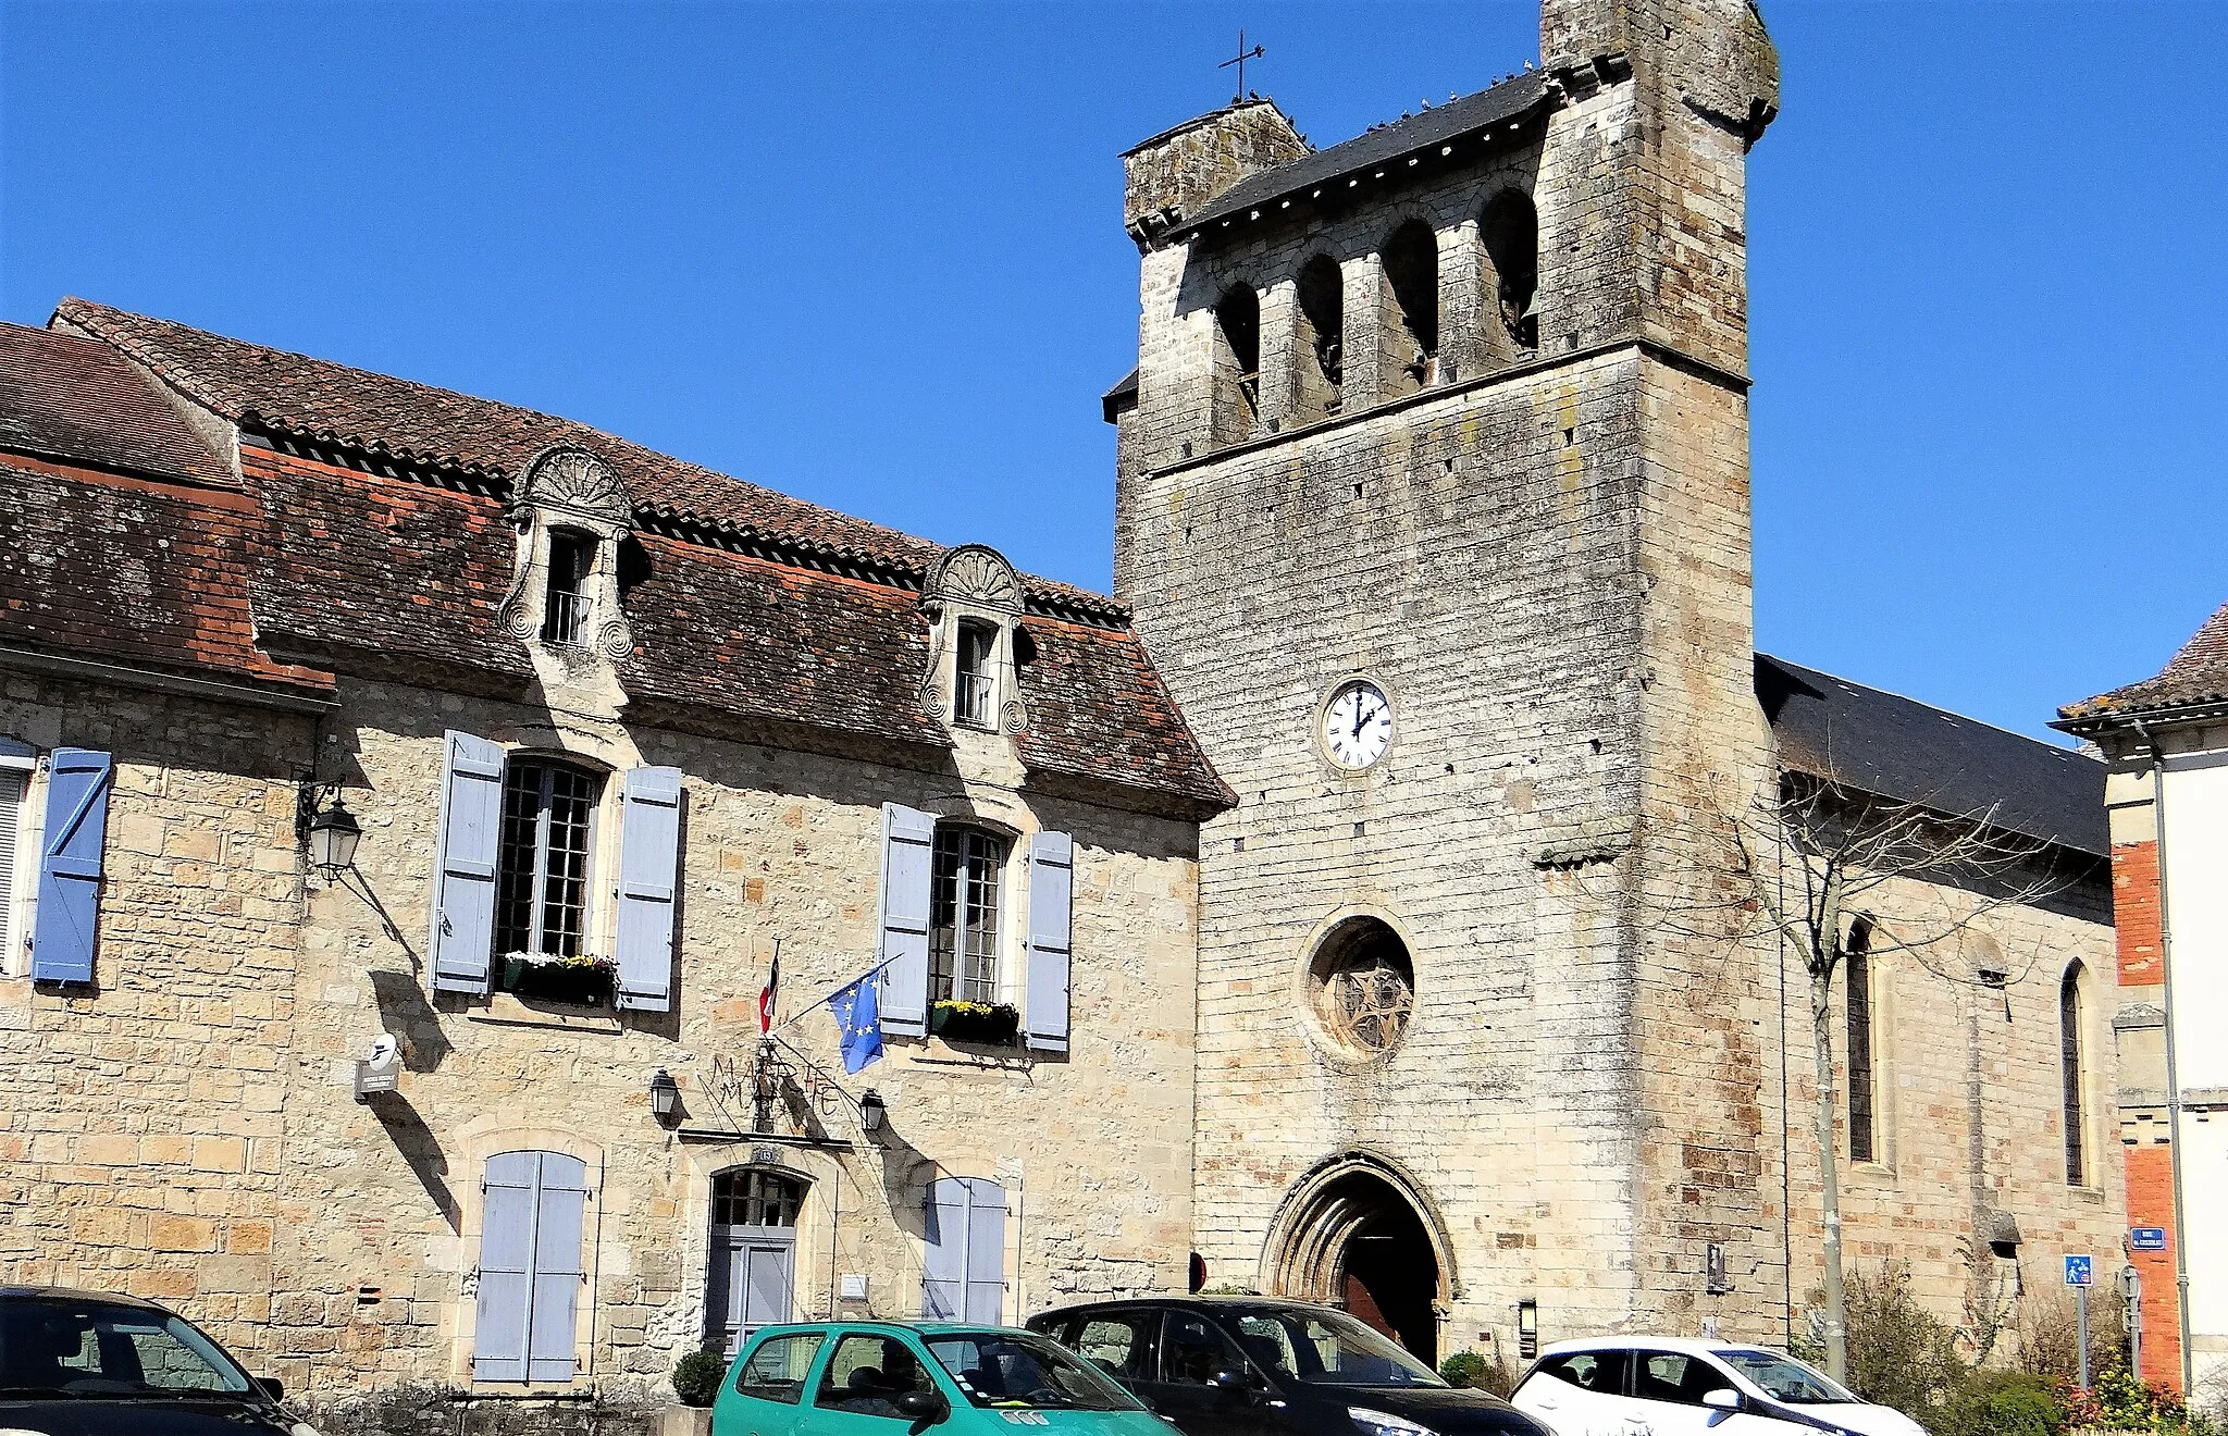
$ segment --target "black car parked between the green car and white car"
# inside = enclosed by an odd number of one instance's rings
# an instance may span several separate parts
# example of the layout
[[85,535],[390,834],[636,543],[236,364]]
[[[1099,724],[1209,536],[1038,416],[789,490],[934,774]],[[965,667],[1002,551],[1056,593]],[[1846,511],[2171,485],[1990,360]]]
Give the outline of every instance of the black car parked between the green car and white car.
[[1098,1363],[1183,1436],[1548,1436],[1330,1307],[1161,1296],[1058,1307],[1029,1329]]

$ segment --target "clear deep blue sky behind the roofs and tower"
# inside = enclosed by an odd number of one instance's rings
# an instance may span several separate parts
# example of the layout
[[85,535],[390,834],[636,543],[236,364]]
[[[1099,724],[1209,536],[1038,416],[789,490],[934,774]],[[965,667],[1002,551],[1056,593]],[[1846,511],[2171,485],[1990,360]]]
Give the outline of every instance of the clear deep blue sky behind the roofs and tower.
[[[1765,0],[1758,643],[2045,732],[2228,601],[2197,4]],[[0,318],[80,294],[1110,581],[1130,142],[1537,58],[1468,4],[0,0]]]

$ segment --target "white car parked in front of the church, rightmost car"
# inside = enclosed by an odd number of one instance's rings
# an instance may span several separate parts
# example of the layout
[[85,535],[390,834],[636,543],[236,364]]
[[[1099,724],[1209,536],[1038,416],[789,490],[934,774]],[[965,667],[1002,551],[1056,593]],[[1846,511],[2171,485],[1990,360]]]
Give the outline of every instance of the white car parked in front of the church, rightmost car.
[[1555,1436],[1927,1436],[1794,1356],[1738,1340],[1560,1340],[1511,1400]]

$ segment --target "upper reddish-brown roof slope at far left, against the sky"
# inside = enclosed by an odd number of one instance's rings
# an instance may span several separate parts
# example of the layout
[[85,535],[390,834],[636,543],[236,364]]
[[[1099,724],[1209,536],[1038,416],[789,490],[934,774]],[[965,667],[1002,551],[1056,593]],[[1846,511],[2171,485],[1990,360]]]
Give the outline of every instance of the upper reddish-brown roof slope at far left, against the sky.
[[109,345],[53,330],[0,325],[0,450],[234,483],[145,374]]

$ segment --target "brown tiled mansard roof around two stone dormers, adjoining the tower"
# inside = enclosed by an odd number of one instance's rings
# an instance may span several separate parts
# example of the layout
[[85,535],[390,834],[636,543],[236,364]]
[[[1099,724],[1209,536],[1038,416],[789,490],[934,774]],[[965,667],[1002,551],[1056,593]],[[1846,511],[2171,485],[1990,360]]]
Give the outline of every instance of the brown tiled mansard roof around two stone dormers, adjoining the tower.
[[[265,666],[278,655],[497,697],[530,692],[528,652],[495,623],[517,552],[506,496],[510,474],[564,441],[610,463],[635,499],[639,550],[622,550],[622,563],[639,559],[639,572],[622,577],[635,652],[617,666],[633,719],[853,755],[869,753],[860,739],[951,744],[920,704],[929,628],[918,590],[942,552],[936,543],[532,410],[85,301],[65,301],[56,318],[241,425],[245,492],[234,501],[254,521],[227,537],[225,579],[241,597],[243,639],[252,601],[252,655]],[[98,563],[71,550],[25,586],[67,594],[69,574]],[[1127,610],[1063,583],[1023,586],[1036,661],[1018,677],[1029,726],[1016,750],[1029,781],[1188,817],[1230,806]],[[118,603],[96,594],[91,606]]]

